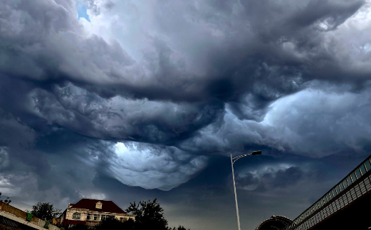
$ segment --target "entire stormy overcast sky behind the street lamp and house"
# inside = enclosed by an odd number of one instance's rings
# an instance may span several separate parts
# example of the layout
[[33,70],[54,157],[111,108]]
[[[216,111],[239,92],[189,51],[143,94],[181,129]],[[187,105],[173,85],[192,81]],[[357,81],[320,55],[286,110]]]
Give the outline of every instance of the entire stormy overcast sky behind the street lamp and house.
[[296,218],[371,153],[371,2],[0,0],[0,192]]

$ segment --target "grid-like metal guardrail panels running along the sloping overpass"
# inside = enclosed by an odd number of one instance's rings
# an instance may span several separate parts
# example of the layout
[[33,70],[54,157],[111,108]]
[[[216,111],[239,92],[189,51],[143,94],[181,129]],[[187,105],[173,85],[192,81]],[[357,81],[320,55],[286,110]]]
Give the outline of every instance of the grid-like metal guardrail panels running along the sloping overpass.
[[371,155],[282,230],[307,230],[371,191]]

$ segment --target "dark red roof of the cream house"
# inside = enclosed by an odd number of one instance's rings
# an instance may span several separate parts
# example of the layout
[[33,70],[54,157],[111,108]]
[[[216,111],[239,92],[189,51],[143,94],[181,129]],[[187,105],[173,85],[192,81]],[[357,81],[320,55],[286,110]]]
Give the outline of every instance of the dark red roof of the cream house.
[[[96,203],[102,203],[102,209],[95,209]],[[126,214],[124,210],[117,206],[112,201],[104,201],[100,199],[80,199],[79,202],[73,204],[71,209],[88,209],[90,211],[102,211],[102,212],[111,212],[111,213],[119,213],[119,214]]]

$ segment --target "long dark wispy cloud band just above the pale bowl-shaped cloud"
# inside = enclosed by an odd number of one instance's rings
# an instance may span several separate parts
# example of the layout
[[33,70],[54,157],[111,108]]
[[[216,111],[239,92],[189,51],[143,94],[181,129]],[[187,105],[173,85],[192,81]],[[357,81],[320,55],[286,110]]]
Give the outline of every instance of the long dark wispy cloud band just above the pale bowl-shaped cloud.
[[182,140],[224,113],[224,105],[217,101],[191,104],[121,96],[106,99],[71,84],[51,93],[33,90],[28,100],[30,113],[83,135],[156,144]]

